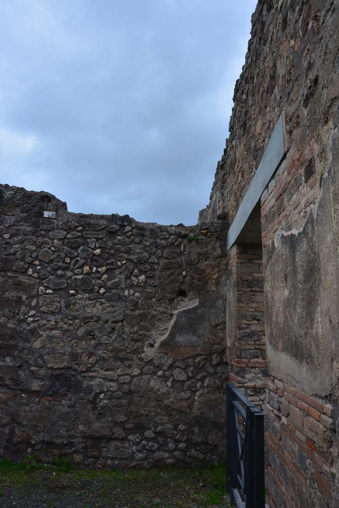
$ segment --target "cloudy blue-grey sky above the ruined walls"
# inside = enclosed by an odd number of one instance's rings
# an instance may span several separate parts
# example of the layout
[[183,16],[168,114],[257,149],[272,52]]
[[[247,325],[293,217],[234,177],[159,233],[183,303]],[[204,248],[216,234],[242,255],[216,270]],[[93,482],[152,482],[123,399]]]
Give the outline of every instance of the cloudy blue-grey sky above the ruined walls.
[[255,0],[0,0],[0,182],[195,224]]

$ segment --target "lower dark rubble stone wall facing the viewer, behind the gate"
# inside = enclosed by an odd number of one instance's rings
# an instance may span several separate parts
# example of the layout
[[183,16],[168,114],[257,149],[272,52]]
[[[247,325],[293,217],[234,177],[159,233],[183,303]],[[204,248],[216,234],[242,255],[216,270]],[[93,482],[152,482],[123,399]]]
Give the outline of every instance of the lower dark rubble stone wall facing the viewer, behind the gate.
[[225,227],[0,185],[1,457],[224,459]]

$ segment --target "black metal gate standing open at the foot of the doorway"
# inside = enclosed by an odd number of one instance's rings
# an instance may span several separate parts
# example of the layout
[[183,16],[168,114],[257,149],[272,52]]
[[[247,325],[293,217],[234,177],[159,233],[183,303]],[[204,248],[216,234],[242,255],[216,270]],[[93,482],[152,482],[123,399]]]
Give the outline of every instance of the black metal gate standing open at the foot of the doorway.
[[227,490],[237,508],[265,508],[264,415],[227,384]]

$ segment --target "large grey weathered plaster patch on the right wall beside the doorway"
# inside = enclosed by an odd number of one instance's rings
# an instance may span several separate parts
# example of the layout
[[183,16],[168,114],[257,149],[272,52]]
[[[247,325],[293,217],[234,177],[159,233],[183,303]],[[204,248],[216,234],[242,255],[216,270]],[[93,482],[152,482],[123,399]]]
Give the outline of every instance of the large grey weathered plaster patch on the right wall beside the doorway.
[[338,274],[329,178],[300,229],[280,231],[267,258],[265,315],[269,372],[311,394],[330,392],[337,335]]

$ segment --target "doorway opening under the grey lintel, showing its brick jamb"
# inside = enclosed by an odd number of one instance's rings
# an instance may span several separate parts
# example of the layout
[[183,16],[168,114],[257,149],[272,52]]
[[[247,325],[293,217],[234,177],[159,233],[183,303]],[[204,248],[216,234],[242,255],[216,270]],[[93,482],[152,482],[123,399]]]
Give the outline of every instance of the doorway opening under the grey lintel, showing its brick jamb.
[[228,256],[229,380],[262,409],[267,365],[260,201]]

